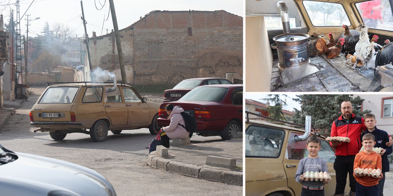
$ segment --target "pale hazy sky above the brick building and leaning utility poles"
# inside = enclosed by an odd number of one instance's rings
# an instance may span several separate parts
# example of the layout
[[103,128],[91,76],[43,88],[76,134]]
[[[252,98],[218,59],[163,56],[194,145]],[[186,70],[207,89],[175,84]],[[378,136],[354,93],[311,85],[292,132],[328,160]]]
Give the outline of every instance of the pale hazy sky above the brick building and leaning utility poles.
[[[83,23],[81,20],[82,10],[80,0],[20,0],[20,15],[30,14],[29,20],[40,17],[38,20],[29,22],[29,37],[35,37],[41,34],[45,22],[49,25],[53,23],[62,23],[68,25],[73,36],[78,34],[79,37],[84,35]],[[97,10],[95,4],[98,9]],[[16,18],[16,0],[0,0],[0,11],[3,14],[4,22],[8,23],[10,9],[14,9],[14,18]],[[30,8],[28,9],[29,5]],[[103,5],[103,6],[102,6]],[[140,16],[153,10],[167,11],[215,11],[225,10],[229,13],[243,16],[242,0],[114,0],[116,17],[119,29],[124,29],[132,23],[138,21]],[[108,0],[83,0],[84,17],[87,22],[86,29],[89,37],[95,31],[97,36],[111,32],[113,29],[112,17],[109,11]],[[105,16],[105,18],[104,18]],[[21,20],[20,27],[22,35],[26,34],[26,16]]]

